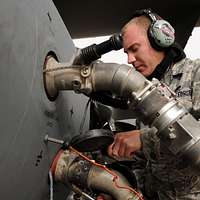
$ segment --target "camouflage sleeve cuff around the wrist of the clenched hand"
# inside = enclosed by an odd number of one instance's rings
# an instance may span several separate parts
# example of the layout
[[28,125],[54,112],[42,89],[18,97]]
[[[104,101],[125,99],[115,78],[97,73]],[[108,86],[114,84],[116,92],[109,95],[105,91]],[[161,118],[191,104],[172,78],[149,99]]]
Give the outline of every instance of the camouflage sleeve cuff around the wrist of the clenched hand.
[[156,128],[143,128],[140,130],[140,139],[142,142],[142,151],[146,159],[158,159],[160,155],[160,139],[157,136]]

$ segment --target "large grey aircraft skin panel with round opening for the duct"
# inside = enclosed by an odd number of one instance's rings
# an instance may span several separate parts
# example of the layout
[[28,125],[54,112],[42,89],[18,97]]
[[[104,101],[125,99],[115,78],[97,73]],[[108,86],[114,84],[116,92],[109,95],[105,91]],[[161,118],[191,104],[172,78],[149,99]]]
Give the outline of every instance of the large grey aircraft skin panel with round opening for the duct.
[[[79,134],[88,99],[61,92],[49,101],[43,64],[49,51],[70,63],[74,44],[50,0],[1,1],[0,29],[0,199],[46,200],[49,167],[60,146],[45,144],[44,137]],[[67,192],[55,188],[55,199]]]

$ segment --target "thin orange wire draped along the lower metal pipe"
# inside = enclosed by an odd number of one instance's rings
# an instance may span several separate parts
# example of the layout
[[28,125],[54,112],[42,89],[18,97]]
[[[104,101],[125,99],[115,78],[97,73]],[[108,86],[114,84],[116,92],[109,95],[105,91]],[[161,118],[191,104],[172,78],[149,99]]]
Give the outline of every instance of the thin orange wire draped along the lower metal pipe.
[[136,190],[134,190],[133,188],[131,188],[129,186],[120,186],[117,183],[117,179],[119,178],[119,176],[116,173],[114,173],[113,171],[109,170],[105,165],[101,165],[99,163],[96,163],[95,160],[89,159],[87,156],[83,155],[82,153],[80,153],[79,151],[74,149],[72,146],[69,146],[69,149],[72,150],[73,152],[75,152],[76,154],[78,154],[79,156],[81,156],[82,158],[84,158],[85,160],[87,160],[88,162],[92,163],[93,165],[96,165],[97,167],[100,167],[103,170],[107,171],[109,174],[111,174],[113,176],[113,182],[115,183],[115,186],[117,188],[129,190],[129,191],[133,192],[137,197],[139,197],[140,200],[144,200],[141,197],[141,194],[139,192],[137,192]]

